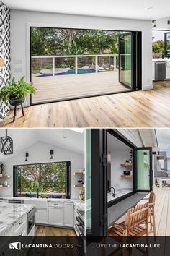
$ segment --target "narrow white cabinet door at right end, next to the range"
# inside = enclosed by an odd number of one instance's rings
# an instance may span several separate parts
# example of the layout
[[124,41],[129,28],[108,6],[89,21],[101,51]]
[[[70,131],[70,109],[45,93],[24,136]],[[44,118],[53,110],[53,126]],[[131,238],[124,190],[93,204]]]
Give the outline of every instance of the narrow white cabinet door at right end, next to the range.
[[73,227],[73,202],[64,202],[64,226]]

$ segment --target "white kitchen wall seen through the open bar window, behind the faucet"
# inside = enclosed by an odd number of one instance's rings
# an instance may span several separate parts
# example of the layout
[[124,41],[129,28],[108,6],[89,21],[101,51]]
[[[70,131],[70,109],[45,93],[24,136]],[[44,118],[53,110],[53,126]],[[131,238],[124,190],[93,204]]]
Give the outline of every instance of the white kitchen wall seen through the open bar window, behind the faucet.
[[130,150],[111,152],[111,186],[117,189],[133,188],[133,179],[121,178],[123,171],[131,171],[131,168],[123,168],[121,163],[130,159]]

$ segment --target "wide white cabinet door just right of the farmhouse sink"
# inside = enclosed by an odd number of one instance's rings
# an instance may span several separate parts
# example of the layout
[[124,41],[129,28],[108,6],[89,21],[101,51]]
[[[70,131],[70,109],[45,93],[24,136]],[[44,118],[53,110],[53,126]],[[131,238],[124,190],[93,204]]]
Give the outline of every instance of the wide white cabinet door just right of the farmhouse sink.
[[63,226],[63,207],[53,206],[48,208],[48,223]]

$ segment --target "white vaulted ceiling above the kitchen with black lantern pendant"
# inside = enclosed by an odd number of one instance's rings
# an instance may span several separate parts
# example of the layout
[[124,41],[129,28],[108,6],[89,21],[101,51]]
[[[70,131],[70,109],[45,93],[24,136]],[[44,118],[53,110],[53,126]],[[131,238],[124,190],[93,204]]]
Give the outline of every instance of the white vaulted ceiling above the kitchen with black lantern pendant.
[[[84,153],[84,132],[75,132],[70,129],[8,129],[14,145],[13,155],[4,155],[0,152],[0,162],[18,155],[38,141],[65,148],[76,153]],[[6,136],[6,129],[0,129],[0,137]]]

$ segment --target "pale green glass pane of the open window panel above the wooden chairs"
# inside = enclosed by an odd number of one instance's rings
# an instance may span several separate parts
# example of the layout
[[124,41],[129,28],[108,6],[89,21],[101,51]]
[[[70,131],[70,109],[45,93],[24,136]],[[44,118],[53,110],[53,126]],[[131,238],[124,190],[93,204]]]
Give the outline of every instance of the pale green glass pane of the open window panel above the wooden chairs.
[[137,151],[137,189],[150,190],[150,150]]

